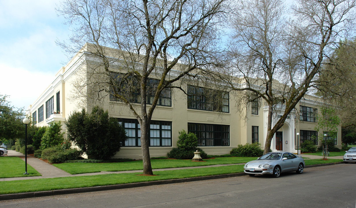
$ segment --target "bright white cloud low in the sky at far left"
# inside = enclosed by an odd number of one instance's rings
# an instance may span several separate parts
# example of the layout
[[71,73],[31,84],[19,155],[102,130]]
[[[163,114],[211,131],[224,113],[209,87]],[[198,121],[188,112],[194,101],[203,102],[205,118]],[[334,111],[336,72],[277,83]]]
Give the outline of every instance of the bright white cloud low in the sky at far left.
[[52,83],[54,73],[28,71],[0,63],[0,94],[7,98],[16,108],[25,109]]

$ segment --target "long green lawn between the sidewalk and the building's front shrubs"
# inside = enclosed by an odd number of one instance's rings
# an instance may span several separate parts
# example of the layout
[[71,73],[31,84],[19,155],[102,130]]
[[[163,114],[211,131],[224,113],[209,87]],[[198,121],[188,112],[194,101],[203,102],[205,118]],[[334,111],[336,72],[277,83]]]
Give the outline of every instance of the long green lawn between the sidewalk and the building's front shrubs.
[[[173,168],[173,167],[193,167],[193,166],[208,166],[217,164],[236,164],[246,163],[251,160],[256,160],[257,157],[215,157],[214,159],[206,159],[204,162],[193,162],[192,160],[174,160],[174,159],[152,159],[151,165],[153,169],[158,168]],[[142,160],[129,162],[112,162],[112,163],[59,163],[54,166],[70,173],[94,173],[101,171],[127,171],[127,170],[142,170]]]

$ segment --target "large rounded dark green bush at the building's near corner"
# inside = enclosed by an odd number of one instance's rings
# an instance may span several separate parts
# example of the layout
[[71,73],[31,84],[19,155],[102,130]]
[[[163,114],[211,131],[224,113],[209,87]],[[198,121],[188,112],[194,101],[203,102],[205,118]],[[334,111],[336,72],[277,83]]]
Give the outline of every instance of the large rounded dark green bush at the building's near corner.
[[99,160],[114,156],[127,139],[124,127],[115,118],[109,118],[107,110],[99,107],[94,107],[90,115],[85,109],[74,112],[65,124],[68,139],[88,156]]

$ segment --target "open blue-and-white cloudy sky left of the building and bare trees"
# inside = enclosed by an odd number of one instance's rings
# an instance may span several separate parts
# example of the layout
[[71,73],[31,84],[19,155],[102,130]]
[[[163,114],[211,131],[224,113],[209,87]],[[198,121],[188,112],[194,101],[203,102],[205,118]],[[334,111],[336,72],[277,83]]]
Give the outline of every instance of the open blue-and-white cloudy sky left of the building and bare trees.
[[70,31],[59,0],[0,0],[0,94],[17,108],[32,104],[68,61],[55,41]]

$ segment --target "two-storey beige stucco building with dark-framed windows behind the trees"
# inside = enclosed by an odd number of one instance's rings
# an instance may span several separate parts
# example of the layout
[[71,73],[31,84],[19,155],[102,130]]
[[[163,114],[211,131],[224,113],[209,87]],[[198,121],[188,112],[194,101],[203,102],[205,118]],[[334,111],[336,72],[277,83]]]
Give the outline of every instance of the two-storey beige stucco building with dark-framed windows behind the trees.
[[[54,121],[65,121],[74,111],[82,107],[90,109],[89,100],[75,99],[77,93],[75,83],[80,81],[80,72],[85,72],[95,60],[88,53],[78,53],[66,66],[59,69],[53,82],[45,91],[27,108],[27,114],[38,126],[48,125]],[[185,86],[190,90],[197,87]],[[204,90],[203,88],[199,88]],[[267,135],[268,108],[261,104],[251,104],[243,114],[237,110],[234,94],[223,95],[223,108],[221,112],[211,111],[206,100],[187,98],[182,91],[172,89],[172,92],[159,101],[150,125],[150,154],[151,157],[165,156],[172,147],[176,146],[178,131],[186,130],[197,134],[199,146],[208,154],[229,154],[230,150],[239,144],[260,142],[265,145]],[[311,136],[319,139],[323,132],[316,132],[316,113],[321,103],[315,98],[305,96],[296,106],[296,113],[291,113],[284,126],[274,135],[271,149],[273,151],[297,152],[297,133],[300,142],[309,140]],[[129,139],[115,157],[142,158],[140,147],[140,126],[126,105],[116,102],[110,97],[103,99],[103,106],[112,117],[120,118],[124,123]],[[135,105],[140,114],[140,104]],[[283,106],[276,108],[273,115],[273,124],[283,113]],[[297,115],[297,116],[296,116]],[[65,130],[65,125],[63,125]],[[337,132],[335,144],[341,147],[341,128]],[[315,140],[316,145],[321,141]]]

